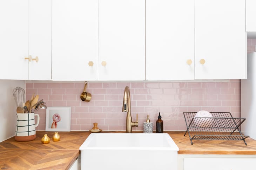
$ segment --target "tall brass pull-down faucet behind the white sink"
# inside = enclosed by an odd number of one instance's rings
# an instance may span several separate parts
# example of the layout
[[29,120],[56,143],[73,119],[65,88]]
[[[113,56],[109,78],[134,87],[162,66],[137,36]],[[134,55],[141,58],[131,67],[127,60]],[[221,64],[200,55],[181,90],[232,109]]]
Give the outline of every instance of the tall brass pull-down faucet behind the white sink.
[[132,133],[133,132],[132,127],[138,126],[138,114],[137,114],[137,120],[133,122],[130,109],[131,109],[130,89],[128,86],[126,86],[123,93],[123,109],[122,109],[122,112],[127,112],[126,133]]

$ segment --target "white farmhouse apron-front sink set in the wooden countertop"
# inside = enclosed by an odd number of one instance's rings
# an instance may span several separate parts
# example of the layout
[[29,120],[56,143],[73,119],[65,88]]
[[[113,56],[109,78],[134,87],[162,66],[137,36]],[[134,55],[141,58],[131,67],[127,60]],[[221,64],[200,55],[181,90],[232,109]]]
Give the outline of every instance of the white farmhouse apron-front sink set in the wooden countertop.
[[81,170],[177,170],[178,147],[167,133],[92,133]]

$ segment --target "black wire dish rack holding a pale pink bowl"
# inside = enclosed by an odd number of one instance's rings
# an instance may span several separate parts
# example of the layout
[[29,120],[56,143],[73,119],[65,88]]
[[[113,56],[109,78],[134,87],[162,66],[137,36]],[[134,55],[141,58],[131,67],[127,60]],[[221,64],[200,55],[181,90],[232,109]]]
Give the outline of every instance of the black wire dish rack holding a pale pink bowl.
[[[243,140],[239,127],[245,118],[233,118],[230,112],[210,112],[213,117],[195,117],[197,112],[183,112],[191,145],[192,140]],[[192,137],[191,137],[192,136]]]

